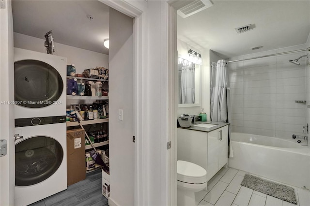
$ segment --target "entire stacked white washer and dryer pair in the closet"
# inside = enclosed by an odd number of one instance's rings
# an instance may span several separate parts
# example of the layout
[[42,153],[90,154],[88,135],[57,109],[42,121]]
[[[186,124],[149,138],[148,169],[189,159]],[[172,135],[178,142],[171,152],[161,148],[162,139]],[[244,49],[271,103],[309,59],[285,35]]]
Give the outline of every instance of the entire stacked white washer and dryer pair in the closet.
[[14,49],[15,198],[26,206],[67,189],[66,58]]

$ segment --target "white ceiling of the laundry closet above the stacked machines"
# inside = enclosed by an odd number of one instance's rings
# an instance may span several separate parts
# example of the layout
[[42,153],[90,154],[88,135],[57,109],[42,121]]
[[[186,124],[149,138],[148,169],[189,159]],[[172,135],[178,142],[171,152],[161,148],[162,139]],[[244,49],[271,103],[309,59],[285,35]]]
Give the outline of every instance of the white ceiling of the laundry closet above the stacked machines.
[[13,0],[12,10],[17,33],[45,39],[52,30],[57,43],[109,54],[109,6],[97,0]]

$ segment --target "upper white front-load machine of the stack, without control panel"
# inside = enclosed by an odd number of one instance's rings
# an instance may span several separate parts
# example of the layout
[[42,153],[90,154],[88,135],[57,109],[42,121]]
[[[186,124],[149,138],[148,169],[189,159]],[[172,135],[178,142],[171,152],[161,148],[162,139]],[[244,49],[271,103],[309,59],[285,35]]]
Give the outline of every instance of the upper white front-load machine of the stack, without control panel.
[[66,64],[64,57],[14,48],[16,119],[65,115]]

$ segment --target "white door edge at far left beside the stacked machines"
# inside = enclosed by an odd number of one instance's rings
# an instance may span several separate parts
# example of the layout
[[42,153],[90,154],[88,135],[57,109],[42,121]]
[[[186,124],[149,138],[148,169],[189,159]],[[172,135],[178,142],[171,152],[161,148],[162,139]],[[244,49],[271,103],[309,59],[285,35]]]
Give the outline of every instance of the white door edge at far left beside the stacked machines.
[[[11,1],[0,0],[0,205],[14,205],[14,61]],[[6,143],[5,143],[6,142]],[[2,150],[6,147],[7,153]]]

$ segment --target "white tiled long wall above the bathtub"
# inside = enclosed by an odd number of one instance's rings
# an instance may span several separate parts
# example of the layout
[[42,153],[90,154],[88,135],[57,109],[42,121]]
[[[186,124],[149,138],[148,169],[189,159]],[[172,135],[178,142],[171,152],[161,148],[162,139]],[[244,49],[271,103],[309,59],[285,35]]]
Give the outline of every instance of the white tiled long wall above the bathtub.
[[[305,48],[306,44],[302,44],[230,60]],[[292,138],[293,133],[303,135],[306,105],[294,101],[306,100],[307,92],[310,95],[308,83],[306,87],[306,78],[310,79],[310,71],[308,69],[306,76],[306,58],[299,59],[300,66],[288,60],[305,54],[306,52],[297,52],[228,64],[233,132],[281,138]]]

